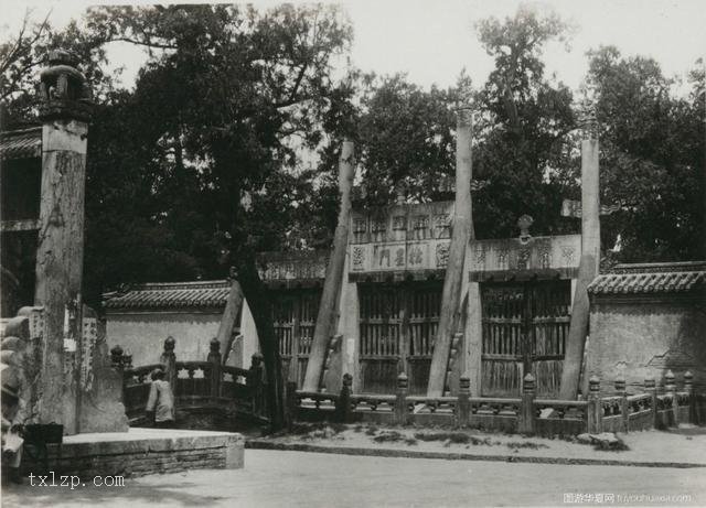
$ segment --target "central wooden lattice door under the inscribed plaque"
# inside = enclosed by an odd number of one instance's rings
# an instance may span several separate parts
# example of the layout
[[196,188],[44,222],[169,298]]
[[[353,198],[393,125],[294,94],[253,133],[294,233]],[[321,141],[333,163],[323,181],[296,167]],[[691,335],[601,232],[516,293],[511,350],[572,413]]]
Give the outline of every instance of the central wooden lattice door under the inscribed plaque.
[[410,393],[426,392],[440,294],[440,283],[360,287],[359,359],[363,392],[394,393],[402,371],[409,377]]

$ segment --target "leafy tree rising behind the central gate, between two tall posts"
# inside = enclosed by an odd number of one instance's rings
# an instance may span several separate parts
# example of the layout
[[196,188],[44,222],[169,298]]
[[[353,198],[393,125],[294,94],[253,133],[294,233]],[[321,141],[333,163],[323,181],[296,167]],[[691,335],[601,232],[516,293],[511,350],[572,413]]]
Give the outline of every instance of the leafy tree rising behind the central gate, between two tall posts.
[[364,76],[354,139],[370,205],[394,203],[396,192],[426,202],[448,195],[453,179],[453,106],[458,87],[428,91],[404,75]]

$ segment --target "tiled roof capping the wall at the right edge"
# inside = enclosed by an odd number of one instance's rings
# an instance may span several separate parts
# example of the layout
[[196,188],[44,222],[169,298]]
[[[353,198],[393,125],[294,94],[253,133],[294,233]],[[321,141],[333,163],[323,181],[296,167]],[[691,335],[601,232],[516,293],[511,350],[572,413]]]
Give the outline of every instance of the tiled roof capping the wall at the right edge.
[[588,292],[601,294],[685,293],[706,289],[706,262],[618,264],[593,279]]

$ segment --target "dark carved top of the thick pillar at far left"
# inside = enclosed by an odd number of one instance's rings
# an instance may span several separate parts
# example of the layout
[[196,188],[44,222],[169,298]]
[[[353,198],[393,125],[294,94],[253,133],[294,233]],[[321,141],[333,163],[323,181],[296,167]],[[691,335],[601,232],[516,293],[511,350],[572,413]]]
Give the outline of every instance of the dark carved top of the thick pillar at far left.
[[89,121],[93,114],[90,86],[78,71],[78,57],[65,50],[49,53],[49,66],[40,73],[40,119]]

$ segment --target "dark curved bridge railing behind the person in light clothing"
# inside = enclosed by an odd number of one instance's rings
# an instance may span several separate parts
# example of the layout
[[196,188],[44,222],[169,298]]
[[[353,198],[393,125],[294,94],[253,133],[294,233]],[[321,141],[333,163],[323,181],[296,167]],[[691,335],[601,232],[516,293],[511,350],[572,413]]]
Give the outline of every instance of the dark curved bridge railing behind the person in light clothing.
[[211,342],[205,361],[176,361],[174,339],[164,342],[159,364],[131,366],[131,357],[116,346],[110,350],[113,366],[122,371],[122,402],[133,424],[145,422],[151,374],[162,369],[170,381],[178,411],[231,410],[259,419],[267,414],[261,357],[254,355],[249,369],[222,365],[220,343]]

